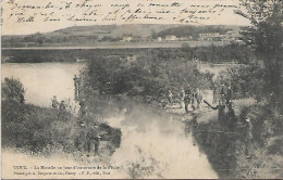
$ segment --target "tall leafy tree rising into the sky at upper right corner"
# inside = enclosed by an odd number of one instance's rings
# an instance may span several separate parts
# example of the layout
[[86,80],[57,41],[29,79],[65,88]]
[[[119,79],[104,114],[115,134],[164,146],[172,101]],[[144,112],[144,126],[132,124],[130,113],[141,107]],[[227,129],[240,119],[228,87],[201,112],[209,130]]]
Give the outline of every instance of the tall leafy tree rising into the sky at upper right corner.
[[241,2],[245,10],[235,13],[250,21],[250,26],[242,28],[243,41],[253,49],[257,60],[267,70],[263,78],[269,102],[276,107],[282,106],[280,102],[283,100],[283,1]]

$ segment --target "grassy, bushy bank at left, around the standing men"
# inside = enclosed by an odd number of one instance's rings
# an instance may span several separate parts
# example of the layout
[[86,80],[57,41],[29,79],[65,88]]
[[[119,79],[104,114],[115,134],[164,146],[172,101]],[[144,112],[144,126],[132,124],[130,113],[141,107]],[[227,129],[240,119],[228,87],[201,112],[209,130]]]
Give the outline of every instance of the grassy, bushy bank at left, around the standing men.
[[[87,133],[95,117],[88,116],[89,124],[83,129],[77,117],[54,108],[4,100],[1,111],[3,149],[16,149],[24,153],[44,156],[65,153],[72,154],[74,158],[87,154],[86,149],[77,147],[76,140],[82,133]],[[120,146],[120,129],[99,124],[99,132],[103,142],[99,152],[101,155],[111,156]]]

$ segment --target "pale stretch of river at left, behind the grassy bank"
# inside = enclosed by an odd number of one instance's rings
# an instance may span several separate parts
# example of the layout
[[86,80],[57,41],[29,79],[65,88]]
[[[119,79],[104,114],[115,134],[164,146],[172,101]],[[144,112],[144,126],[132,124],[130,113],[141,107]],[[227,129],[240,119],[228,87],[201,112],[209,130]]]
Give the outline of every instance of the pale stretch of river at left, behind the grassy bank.
[[26,103],[50,106],[53,95],[58,100],[73,100],[73,77],[82,67],[82,63],[5,63],[1,79],[20,79],[26,89]]

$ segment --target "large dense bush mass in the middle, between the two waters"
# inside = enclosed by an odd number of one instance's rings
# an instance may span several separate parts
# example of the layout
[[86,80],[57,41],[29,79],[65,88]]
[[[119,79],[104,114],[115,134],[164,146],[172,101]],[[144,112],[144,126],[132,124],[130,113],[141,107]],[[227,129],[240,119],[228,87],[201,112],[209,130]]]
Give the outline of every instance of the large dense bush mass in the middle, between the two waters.
[[[96,56],[82,72],[84,94],[89,101],[110,101],[110,97],[127,97],[146,103],[167,100],[168,90],[175,97],[187,85],[208,88],[206,74],[187,61],[182,53],[148,50],[135,61],[119,57]],[[95,99],[89,97],[96,95]],[[90,103],[89,103],[90,104]],[[107,105],[107,104],[106,104]]]

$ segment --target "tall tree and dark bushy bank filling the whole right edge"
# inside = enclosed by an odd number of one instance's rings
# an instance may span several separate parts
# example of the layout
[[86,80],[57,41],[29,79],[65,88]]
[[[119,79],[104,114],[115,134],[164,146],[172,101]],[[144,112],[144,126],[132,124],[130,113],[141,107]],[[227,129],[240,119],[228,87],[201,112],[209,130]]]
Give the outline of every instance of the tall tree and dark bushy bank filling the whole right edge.
[[196,138],[220,177],[282,178],[283,2],[242,0],[242,4],[248,11],[236,13],[251,23],[242,29],[243,40],[256,59],[223,72],[218,80],[231,83],[235,98],[257,100],[256,104],[243,107],[237,116],[238,124],[245,116],[250,118],[251,158],[245,157],[246,136],[241,128],[235,133],[207,133],[208,130],[219,132],[223,129],[211,121],[198,126],[200,132]]

